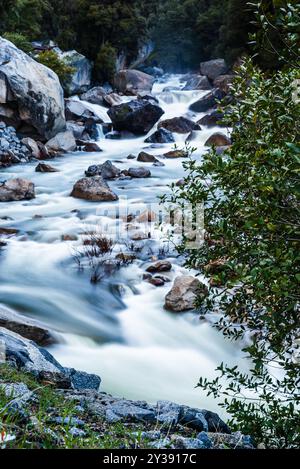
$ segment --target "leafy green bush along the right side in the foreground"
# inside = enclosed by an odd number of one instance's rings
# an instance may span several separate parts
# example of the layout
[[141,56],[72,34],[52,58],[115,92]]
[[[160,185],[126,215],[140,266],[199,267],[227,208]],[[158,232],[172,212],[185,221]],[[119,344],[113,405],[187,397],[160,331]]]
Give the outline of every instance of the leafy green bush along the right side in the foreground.
[[223,396],[232,424],[256,442],[292,448],[300,445],[299,5],[282,15],[283,29],[292,22],[279,49],[285,67],[266,76],[251,60],[241,66],[226,112],[232,146],[186,163],[171,201],[204,203],[204,244],[189,250],[184,239],[179,250],[211,277],[205,307],[222,311],[217,327],[248,337],[250,372],[222,364],[199,387]]

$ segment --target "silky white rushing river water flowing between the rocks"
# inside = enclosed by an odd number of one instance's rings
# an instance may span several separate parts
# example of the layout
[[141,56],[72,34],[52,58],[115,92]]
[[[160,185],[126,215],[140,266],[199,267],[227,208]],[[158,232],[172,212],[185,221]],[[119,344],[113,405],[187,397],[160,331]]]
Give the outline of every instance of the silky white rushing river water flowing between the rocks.
[[[163,118],[180,115],[198,120],[189,105],[205,92],[167,91],[180,87],[179,76],[155,84],[154,94],[165,110]],[[92,105],[90,105],[92,106]],[[102,118],[107,110],[94,107]],[[108,116],[106,117],[108,122]],[[202,129],[193,144],[196,158],[205,151],[205,140],[217,129]],[[186,136],[177,135],[178,145]],[[175,315],[163,309],[170,288],[155,288],[142,281],[145,262],[139,260],[122,268],[98,285],[89,282],[86,273],[76,269],[72,252],[81,243],[62,241],[63,235],[78,236],[105,221],[112,226],[116,203],[94,204],[69,196],[75,181],[92,164],[115,161],[121,169],[141,166],[128,160],[147,147],[145,137],[128,140],[103,139],[101,153],[74,153],[53,160],[60,172],[36,173],[36,164],[11,167],[0,179],[24,177],[36,185],[36,199],[0,205],[1,226],[20,230],[12,237],[0,259],[0,303],[24,314],[42,319],[62,332],[63,342],[51,348],[66,366],[94,372],[102,377],[102,388],[115,395],[153,402],[168,399],[198,407],[217,409],[213,398],[194,389],[200,375],[212,377],[221,362],[236,364],[240,348],[224,340],[209,322],[197,315]],[[173,145],[151,149],[161,154]],[[119,195],[126,196],[131,207],[143,209],[165,193],[167,185],[183,175],[182,161],[165,160],[164,167],[151,169],[148,179],[110,182]],[[11,219],[4,219],[10,217]],[[2,218],[2,220],[1,220]],[[149,241],[149,249],[153,248]],[[145,258],[147,255],[145,255]],[[172,278],[186,272],[176,265]],[[123,285],[125,295],[118,296],[116,286]]]

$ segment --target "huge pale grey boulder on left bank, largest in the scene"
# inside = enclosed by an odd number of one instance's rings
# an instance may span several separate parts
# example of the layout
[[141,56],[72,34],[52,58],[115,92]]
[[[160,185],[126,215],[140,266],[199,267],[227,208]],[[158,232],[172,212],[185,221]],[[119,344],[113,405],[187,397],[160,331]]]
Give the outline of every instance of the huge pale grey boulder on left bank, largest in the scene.
[[[65,129],[63,90],[57,75],[0,37],[1,102],[19,125],[50,139]],[[30,130],[30,132],[29,132]]]

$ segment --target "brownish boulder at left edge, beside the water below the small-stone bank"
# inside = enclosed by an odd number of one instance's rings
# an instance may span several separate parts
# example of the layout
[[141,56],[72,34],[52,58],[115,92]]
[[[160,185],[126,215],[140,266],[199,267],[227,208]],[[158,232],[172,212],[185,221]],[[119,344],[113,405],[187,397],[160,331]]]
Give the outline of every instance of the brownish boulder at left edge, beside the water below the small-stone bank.
[[0,202],[31,200],[34,198],[34,184],[27,179],[17,178],[0,182]]

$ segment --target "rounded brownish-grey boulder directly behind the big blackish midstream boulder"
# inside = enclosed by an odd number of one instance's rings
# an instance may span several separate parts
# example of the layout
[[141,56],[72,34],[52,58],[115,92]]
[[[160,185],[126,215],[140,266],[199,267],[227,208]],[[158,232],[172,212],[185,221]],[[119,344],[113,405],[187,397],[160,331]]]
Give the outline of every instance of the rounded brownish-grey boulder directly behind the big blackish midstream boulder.
[[151,93],[153,83],[153,76],[139,70],[120,70],[114,78],[117,91],[129,96]]

